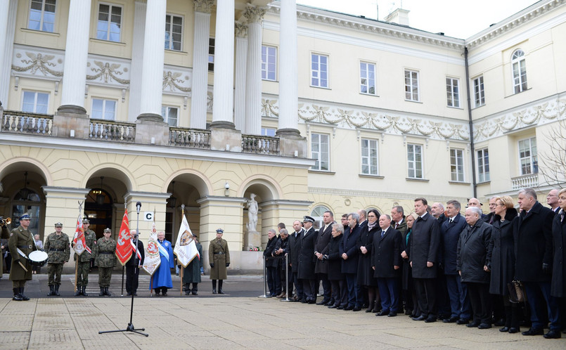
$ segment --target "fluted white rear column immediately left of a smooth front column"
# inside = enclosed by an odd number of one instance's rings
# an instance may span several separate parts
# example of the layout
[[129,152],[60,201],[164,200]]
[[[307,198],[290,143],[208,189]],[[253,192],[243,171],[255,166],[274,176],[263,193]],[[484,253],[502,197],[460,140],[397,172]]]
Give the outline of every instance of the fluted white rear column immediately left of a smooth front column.
[[208,92],[208,40],[212,0],[194,0],[193,83],[191,87],[191,128],[205,129]]

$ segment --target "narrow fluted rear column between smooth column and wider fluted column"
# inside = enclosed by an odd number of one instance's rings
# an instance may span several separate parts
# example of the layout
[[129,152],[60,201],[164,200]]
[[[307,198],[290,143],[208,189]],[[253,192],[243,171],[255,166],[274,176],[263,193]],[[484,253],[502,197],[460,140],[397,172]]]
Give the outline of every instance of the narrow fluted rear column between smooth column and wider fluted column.
[[234,124],[244,131],[245,125],[245,65],[247,55],[247,25],[236,22],[236,84],[234,88]]

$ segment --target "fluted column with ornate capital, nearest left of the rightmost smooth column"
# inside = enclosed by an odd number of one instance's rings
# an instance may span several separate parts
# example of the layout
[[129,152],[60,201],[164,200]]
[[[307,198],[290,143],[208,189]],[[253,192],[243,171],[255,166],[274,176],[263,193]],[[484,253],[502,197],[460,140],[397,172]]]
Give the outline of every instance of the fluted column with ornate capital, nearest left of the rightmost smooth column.
[[245,70],[245,134],[262,130],[262,22],[265,8],[247,4],[247,66]]

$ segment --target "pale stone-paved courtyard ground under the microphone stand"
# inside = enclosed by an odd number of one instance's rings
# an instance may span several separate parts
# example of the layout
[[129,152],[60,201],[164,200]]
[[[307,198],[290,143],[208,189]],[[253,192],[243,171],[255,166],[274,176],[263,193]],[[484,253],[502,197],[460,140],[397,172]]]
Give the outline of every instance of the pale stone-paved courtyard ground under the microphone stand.
[[[41,276],[34,279],[44,282]],[[98,334],[127,328],[130,297],[14,302],[6,295],[9,281],[2,278],[0,349],[566,349],[566,339],[259,298],[262,278],[229,279],[226,295],[213,295],[205,278],[197,297],[136,297],[133,323],[145,328],[149,337],[143,337],[133,332]],[[70,277],[65,280],[70,285]],[[35,293],[33,288],[30,292]]]

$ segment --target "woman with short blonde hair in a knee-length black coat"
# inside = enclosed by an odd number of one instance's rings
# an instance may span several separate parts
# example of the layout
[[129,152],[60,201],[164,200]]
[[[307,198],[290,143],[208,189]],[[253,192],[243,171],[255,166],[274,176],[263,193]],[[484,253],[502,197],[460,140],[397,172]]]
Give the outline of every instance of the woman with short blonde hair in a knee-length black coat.
[[500,332],[519,332],[519,304],[509,302],[508,283],[515,276],[515,244],[513,243],[513,225],[517,217],[513,207],[513,198],[508,195],[496,198],[493,229],[489,251],[491,252],[491,280],[489,293],[496,294],[497,302],[505,309],[505,326]]

